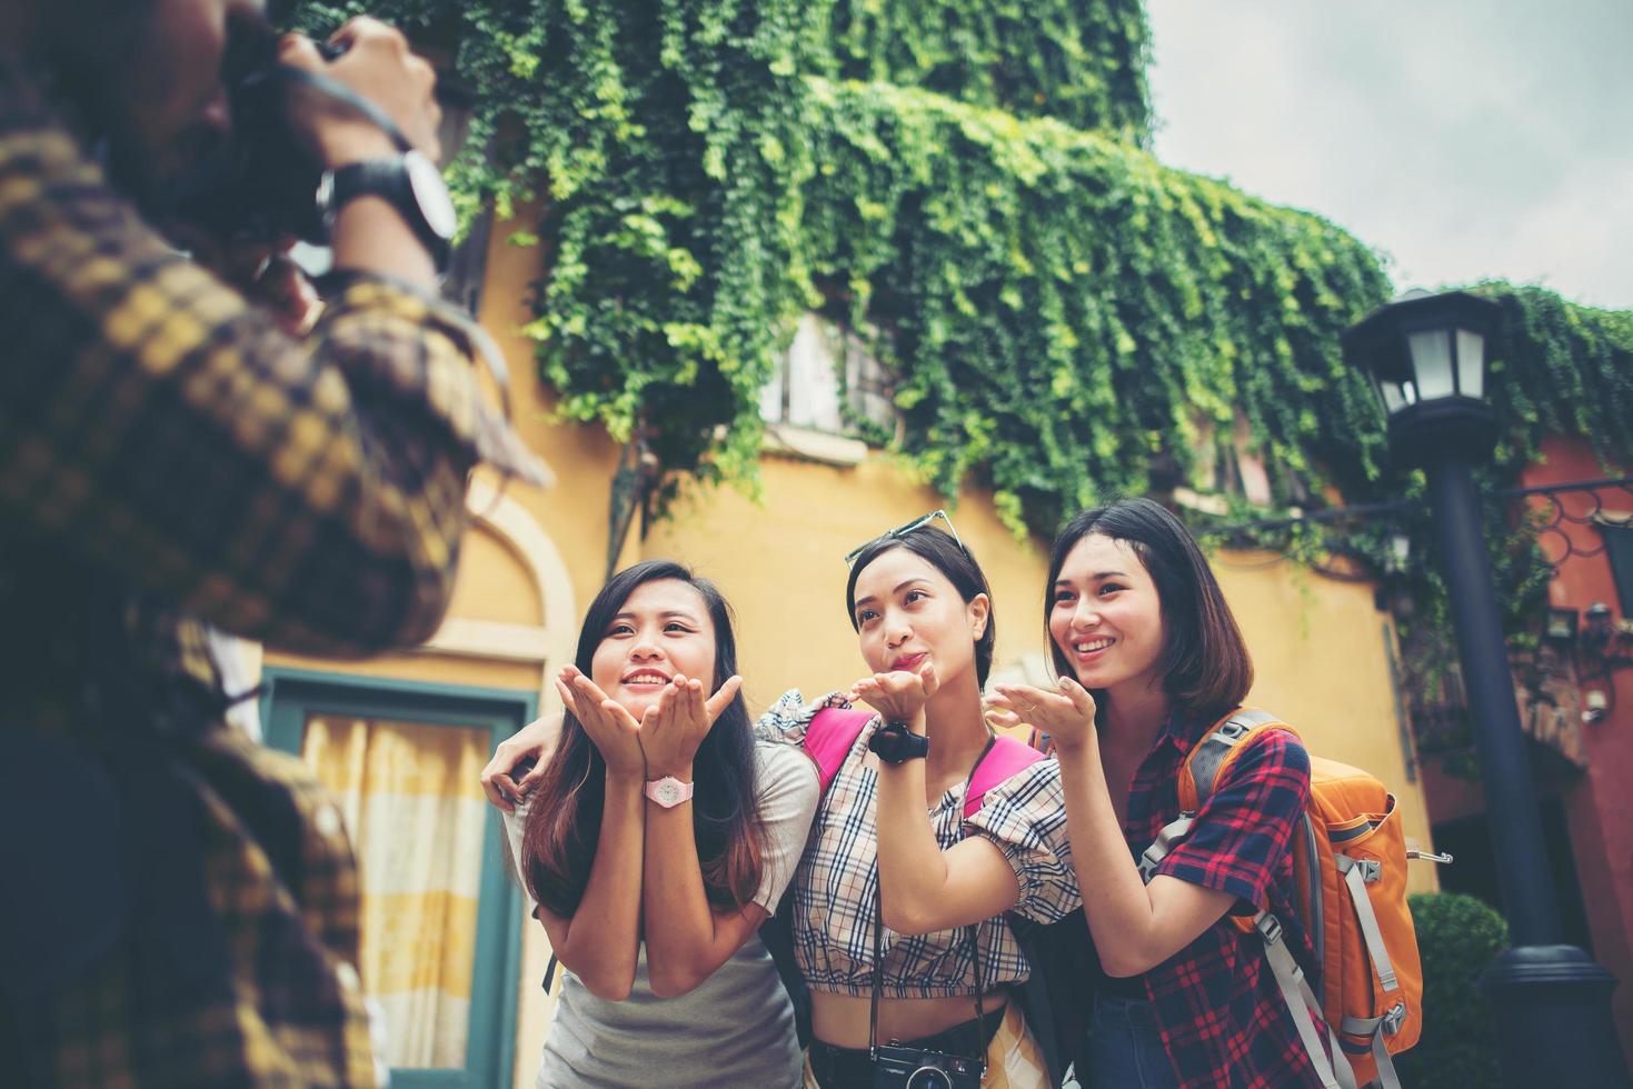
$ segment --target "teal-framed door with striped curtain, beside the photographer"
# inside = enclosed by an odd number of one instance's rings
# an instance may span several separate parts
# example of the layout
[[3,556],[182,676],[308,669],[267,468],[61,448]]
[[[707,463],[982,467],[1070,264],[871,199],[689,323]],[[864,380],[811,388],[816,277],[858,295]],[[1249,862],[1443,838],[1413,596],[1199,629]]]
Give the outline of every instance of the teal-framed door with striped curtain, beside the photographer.
[[268,669],[266,743],[336,795],[358,852],[358,968],[392,1086],[511,1081],[521,893],[477,780],[532,692]]

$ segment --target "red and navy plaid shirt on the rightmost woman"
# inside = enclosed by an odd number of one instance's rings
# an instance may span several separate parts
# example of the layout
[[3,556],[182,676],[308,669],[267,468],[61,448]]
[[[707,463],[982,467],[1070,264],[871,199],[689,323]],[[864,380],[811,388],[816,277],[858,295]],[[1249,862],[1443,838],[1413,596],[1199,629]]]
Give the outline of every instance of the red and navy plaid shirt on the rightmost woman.
[[[1137,859],[1179,816],[1179,767],[1212,725],[1169,720],[1135,772],[1124,838]],[[1269,908],[1306,970],[1313,952],[1293,913],[1288,844],[1308,800],[1310,754],[1292,733],[1266,731],[1231,762],[1190,834],[1156,867],[1156,873]],[[1264,944],[1228,918],[1146,971],[1145,989],[1179,1084],[1321,1084],[1264,963]]]

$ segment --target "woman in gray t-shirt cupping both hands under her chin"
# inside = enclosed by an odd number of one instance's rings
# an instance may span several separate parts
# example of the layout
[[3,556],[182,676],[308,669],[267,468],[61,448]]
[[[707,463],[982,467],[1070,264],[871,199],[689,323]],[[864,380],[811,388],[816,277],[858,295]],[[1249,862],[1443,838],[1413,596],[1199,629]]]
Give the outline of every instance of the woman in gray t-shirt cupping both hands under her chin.
[[754,740],[740,684],[719,589],[639,563],[590,606],[558,728],[541,720],[513,746],[557,735],[521,860],[567,967],[541,1087],[800,1081],[794,1007],[758,931],[818,784],[799,751]]

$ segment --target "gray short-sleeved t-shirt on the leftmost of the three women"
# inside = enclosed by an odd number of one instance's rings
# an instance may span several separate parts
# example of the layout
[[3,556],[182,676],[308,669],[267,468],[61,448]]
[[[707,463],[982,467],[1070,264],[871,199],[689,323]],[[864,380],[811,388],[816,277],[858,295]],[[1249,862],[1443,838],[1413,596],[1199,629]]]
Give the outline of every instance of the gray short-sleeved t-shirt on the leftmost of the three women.
[[[754,745],[764,872],[754,903],[777,909],[805,851],[820,789],[816,767],[792,745]],[[647,926],[663,926],[648,919]],[[802,1079],[794,1006],[759,934],[679,998],[647,983],[647,950],[622,1002],[591,994],[562,973],[562,999],[544,1043],[539,1089],[756,1086],[794,1089]]]

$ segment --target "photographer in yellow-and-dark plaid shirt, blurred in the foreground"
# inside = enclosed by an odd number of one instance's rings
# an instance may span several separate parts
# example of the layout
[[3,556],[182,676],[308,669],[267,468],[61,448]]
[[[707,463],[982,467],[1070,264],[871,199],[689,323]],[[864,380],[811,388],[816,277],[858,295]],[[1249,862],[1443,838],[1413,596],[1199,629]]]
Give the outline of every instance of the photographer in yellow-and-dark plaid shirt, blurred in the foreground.
[[[338,209],[349,276],[305,341],[144,219],[229,124],[230,18],[260,5],[0,0],[7,1084],[376,1084],[338,811],[224,727],[204,622],[320,655],[423,640],[467,473],[542,477],[398,206]],[[434,160],[431,69],[372,20],[336,44],[279,60]],[[330,168],[397,153],[356,113],[291,126]]]

